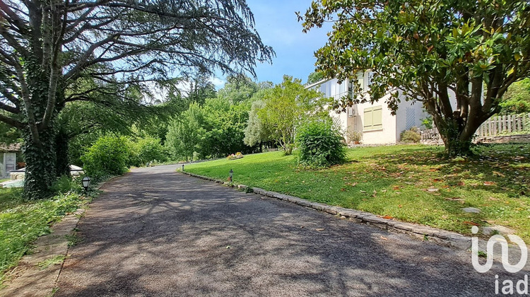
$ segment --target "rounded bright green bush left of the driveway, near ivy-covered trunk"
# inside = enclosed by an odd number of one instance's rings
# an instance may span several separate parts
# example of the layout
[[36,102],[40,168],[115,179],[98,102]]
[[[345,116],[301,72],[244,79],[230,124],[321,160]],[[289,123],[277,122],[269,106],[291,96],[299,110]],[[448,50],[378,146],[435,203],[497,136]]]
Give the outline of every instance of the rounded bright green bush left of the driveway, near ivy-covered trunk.
[[86,175],[96,180],[108,175],[122,175],[127,171],[130,150],[125,137],[100,137],[81,156]]

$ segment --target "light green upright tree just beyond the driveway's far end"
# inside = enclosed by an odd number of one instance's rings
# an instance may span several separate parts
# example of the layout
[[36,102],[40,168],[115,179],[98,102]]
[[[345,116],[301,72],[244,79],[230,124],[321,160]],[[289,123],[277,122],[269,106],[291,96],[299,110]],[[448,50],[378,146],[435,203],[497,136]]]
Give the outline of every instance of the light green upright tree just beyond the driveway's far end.
[[194,152],[199,146],[204,129],[201,107],[198,103],[189,105],[189,109],[170,122],[165,146],[175,158],[193,161]]

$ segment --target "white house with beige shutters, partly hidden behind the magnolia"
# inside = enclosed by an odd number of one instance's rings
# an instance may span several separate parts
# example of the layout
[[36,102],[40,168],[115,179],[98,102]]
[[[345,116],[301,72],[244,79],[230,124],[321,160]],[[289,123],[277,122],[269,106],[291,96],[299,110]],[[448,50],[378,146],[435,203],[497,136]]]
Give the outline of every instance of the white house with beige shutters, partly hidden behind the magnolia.
[[[358,74],[363,91],[370,88],[370,74]],[[340,99],[345,95],[351,96],[351,86],[352,83],[348,80],[338,83],[336,78],[332,78],[313,83],[306,88],[314,88],[326,98]],[[411,127],[420,127],[421,120],[428,117],[421,103],[412,104],[411,101],[406,101],[405,97],[400,98],[396,115],[391,115],[391,110],[385,103],[389,96],[390,94],[384,96],[374,104],[355,104],[348,107],[346,113],[330,112],[331,117],[340,124],[346,142],[351,142],[348,132],[358,131],[363,133],[363,144],[395,144],[400,141],[401,132]]]

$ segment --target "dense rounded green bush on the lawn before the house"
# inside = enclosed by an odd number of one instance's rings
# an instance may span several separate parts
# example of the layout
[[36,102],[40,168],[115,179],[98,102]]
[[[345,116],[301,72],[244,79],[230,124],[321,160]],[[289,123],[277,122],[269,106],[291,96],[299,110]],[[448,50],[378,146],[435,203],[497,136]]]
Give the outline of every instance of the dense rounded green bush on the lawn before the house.
[[343,137],[329,122],[309,122],[296,135],[298,162],[310,167],[327,167],[346,161]]

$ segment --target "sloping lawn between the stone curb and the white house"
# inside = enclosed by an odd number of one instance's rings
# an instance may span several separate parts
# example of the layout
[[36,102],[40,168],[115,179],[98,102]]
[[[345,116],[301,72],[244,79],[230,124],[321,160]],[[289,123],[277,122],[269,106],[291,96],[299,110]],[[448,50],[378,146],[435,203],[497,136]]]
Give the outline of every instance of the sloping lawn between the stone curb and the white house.
[[[185,170],[471,235],[501,225],[530,243],[530,144],[476,148],[478,157],[442,158],[440,146],[351,148],[348,163],[305,170],[282,152],[187,165]],[[480,214],[461,209],[475,207]]]

